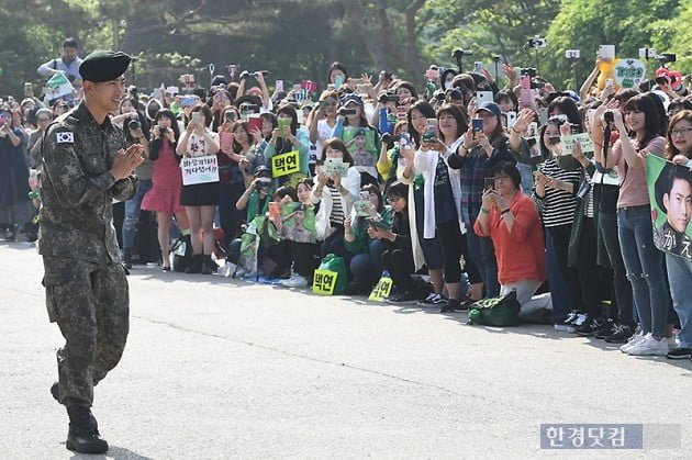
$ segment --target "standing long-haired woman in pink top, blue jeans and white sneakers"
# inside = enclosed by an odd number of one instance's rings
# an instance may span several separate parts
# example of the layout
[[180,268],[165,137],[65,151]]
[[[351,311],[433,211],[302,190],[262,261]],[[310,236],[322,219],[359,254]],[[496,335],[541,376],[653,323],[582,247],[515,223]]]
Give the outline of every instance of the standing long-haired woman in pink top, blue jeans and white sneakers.
[[605,168],[617,166],[617,233],[627,279],[639,314],[641,330],[621,351],[634,356],[666,355],[666,329],[670,293],[663,278],[663,256],[654,246],[651,203],[646,182],[645,157],[663,156],[666,112],[658,96],[635,96],[618,110],[611,110],[620,139],[609,149]]

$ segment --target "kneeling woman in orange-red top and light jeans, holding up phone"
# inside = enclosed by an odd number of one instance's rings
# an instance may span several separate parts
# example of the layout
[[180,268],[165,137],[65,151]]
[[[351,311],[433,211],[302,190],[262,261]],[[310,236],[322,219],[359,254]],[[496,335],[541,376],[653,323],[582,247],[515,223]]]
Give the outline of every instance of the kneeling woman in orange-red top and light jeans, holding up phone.
[[553,303],[549,294],[534,296],[546,280],[546,251],[540,216],[534,201],[522,193],[521,180],[514,162],[493,168],[493,187],[483,191],[473,231],[492,239],[500,295],[516,291],[522,313],[526,314],[551,308]]

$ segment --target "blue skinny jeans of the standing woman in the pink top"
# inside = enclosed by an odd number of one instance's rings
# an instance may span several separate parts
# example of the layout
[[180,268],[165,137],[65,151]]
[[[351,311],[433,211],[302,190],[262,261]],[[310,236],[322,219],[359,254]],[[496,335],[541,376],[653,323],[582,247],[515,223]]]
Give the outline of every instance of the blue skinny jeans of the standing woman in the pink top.
[[670,293],[661,270],[663,255],[654,246],[651,207],[617,210],[617,234],[641,329],[663,337]]

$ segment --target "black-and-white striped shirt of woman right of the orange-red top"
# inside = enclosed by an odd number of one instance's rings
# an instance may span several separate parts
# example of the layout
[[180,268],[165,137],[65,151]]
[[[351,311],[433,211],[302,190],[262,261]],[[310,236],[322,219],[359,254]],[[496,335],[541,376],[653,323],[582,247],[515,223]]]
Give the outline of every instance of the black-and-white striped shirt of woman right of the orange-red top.
[[[581,173],[577,171],[566,171],[560,168],[555,158],[550,158],[543,162],[538,170],[549,178],[558,179],[562,182],[574,184],[574,191],[579,188],[579,179]],[[546,186],[546,195],[542,199],[534,192],[534,200],[542,206],[540,217],[546,227],[557,227],[560,225],[570,225],[574,220],[574,211],[577,210],[577,197],[574,193],[566,192],[561,189],[554,189]]]

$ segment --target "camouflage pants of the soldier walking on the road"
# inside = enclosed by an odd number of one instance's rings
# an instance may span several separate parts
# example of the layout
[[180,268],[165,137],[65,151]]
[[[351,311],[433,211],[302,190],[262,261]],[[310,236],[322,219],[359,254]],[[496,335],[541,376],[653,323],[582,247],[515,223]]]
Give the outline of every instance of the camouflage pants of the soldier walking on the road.
[[46,306],[65,345],[57,351],[63,404],[91,406],[93,385],[118,364],[130,329],[130,294],[120,263],[43,257]]

